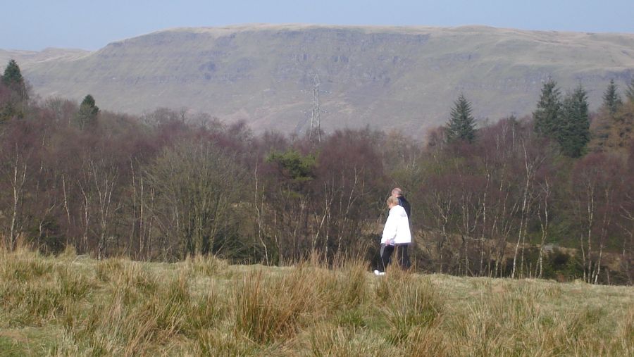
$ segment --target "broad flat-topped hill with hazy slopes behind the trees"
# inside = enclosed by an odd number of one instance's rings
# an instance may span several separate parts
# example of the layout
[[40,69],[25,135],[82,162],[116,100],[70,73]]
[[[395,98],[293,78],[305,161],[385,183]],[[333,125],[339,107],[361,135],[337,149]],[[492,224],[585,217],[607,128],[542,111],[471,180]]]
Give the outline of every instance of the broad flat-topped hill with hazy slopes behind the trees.
[[256,131],[309,125],[313,77],[321,120],[339,127],[395,128],[417,137],[447,121],[462,92],[478,119],[530,114],[542,81],[583,84],[591,108],[611,78],[634,77],[634,34],[468,27],[239,25],[178,28],[94,52],[0,51],[35,92],[143,113],[187,108]]

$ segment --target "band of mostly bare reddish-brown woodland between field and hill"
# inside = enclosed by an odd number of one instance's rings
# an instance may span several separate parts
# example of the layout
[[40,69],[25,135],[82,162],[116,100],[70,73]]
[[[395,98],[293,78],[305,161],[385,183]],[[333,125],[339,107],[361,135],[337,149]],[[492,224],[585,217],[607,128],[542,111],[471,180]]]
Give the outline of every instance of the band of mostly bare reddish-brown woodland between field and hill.
[[597,113],[542,87],[532,117],[476,126],[464,95],[425,144],[368,128],[252,133],[206,114],[140,116],[0,83],[3,244],[157,261],[278,265],[378,254],[392,187],[412,203],[416,268],[632,284],[634,84]]

